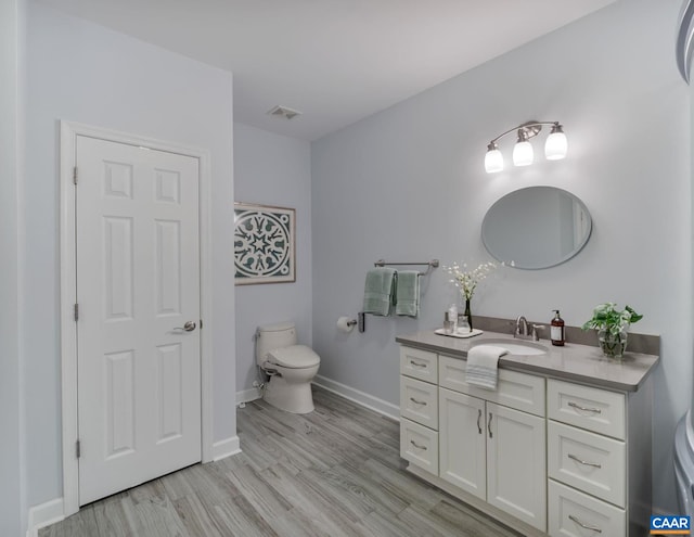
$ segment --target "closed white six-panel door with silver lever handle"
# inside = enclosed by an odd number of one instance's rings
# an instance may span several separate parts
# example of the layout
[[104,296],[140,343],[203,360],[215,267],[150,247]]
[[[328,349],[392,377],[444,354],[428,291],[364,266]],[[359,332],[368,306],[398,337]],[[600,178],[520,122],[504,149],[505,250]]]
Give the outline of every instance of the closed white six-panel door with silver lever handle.
[[76,162],[85,504],[201,460],[200,176],[197,158],[85,136]]

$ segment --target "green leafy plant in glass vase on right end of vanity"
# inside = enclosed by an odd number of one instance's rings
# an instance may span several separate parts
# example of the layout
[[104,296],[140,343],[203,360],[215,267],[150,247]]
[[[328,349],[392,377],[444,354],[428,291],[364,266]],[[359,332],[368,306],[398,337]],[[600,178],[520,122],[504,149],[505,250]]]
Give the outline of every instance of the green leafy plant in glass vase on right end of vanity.
[[583,323],[583,330],[597,330],[597,343],[603,355],[608,358],[621,358],[627,349],[629,327],[643,319],[630,306],[617,309],[612,302],[600,304],[593,309],[593,317]]

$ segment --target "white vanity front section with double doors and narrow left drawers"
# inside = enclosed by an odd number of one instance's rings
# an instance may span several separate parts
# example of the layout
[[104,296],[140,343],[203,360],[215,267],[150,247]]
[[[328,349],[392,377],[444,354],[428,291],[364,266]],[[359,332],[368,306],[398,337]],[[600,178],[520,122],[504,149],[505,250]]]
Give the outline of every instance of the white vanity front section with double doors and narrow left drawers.
[[489,391],[465,382],[465,363],[400,348],[400,455],[544,532],[544,379],[500,371]]

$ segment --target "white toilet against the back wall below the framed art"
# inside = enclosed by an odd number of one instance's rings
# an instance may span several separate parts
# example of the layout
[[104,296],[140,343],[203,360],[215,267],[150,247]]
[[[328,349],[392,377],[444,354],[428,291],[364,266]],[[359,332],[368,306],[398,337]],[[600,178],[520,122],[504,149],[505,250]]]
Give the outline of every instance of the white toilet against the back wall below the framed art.
[[256,332],[256,361],[270,375],[264,399],[295,414],[313,411],[311,381],[320,357],[306,345],[296,344],[293,322],[259,327]]

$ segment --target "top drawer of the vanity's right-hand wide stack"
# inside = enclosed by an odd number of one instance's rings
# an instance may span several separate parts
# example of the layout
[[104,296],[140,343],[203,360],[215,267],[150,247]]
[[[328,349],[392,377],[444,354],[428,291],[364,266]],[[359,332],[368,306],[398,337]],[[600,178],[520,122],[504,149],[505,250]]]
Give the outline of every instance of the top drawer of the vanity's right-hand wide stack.
[[551,420],[625,439],[625,394],[555,380],[548,381],[547,389]]

